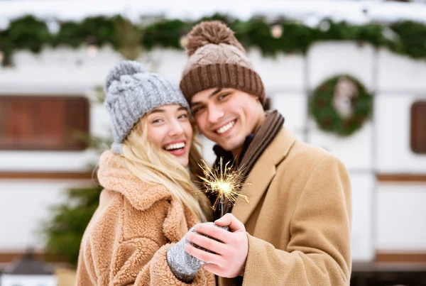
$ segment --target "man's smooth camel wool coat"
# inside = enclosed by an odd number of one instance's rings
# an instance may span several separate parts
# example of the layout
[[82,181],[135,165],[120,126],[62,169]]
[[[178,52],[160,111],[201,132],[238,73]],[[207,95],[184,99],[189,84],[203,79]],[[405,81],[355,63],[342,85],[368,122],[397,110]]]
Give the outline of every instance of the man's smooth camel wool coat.
[[231,213],[246,226],[244,280],[219,285],[349,285],[351,186],[342,163],[283,127],[253,166]]

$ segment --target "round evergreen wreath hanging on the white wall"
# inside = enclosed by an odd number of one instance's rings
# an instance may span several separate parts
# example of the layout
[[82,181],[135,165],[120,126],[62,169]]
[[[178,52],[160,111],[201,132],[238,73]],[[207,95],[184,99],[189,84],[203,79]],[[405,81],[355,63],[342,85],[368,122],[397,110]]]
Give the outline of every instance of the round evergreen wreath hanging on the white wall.
[[310,115],[322,131],[350,136],[373,111],[373,96],[350,75],[326,79],[311,94]]

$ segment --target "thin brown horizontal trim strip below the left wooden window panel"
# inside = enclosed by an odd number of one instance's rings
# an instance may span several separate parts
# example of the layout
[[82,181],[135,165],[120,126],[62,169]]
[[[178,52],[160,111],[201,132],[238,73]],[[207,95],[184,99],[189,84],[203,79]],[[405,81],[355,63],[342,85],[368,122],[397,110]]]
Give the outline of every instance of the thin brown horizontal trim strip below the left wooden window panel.
[[0,172],[0,180],[90,180],[96,172]]

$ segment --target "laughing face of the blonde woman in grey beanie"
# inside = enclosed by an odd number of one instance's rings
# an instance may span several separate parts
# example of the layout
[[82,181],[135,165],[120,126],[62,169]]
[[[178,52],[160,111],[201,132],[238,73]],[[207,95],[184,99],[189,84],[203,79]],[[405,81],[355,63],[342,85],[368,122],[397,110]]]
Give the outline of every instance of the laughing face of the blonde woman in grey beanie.
[[148,141],[176,157],[186,167],[192,144],[192,126],[187,109],[168,104],[148,112]]

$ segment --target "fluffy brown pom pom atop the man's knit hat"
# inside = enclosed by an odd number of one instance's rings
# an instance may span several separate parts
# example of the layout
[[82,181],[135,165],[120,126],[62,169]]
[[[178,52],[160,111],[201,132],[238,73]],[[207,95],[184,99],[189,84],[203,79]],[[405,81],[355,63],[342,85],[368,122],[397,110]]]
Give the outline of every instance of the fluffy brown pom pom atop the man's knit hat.
[[202,22],[192,28],[192,31],[187,35],[187,55],[193,55],[197,49],[204,45],[219,45],[221,43],[234,45],[242,52],[245,52],[243,46],[235,38],[234,31],[224,23],[220,21]]

